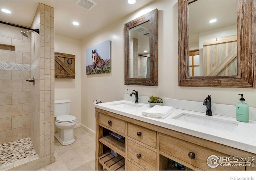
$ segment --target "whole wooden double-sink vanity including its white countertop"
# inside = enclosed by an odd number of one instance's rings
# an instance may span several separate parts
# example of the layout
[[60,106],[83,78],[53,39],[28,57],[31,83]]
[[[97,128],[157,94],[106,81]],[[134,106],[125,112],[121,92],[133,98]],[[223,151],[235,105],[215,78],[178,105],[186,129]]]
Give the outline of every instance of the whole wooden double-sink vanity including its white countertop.
[[[142,116],[149,108],[125,100],[95,105],[95,170],[176,170],[170,161],[182,164],[185,170],[256,170],[256,143],[246,138],[255,135],[256,121],[246,124],[214,115],[219,118],[217,124],[205,126],[180,118],[191,115],[196,120],[213,121],[205,113],[174,108],[164,119]],[[220,158],[218,165],[210,162],[216,157]]]

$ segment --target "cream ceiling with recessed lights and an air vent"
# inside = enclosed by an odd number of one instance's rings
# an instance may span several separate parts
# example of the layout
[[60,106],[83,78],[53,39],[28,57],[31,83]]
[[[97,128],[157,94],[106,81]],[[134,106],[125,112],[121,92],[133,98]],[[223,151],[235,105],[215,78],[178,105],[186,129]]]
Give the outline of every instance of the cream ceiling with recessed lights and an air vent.
[[[76,0],[0,0],[0,9],[10,10],[11,14],[0,11],[0,21],[30,27],[39,3],[54,8],[55,34],[82,40],[102,28],[128,16],[153,2],[137,0],[128,4],[126,0],[94,0],[90,10],[76,5]],[[79,22],[79,26],[72,24]]]

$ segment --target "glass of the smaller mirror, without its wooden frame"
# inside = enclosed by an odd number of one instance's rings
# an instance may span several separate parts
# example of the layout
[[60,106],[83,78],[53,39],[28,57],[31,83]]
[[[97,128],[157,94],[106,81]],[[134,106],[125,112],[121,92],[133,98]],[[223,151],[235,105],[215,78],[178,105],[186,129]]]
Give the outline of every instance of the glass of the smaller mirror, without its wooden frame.
[[149,78],[149,21],[130,29],[130,78]]

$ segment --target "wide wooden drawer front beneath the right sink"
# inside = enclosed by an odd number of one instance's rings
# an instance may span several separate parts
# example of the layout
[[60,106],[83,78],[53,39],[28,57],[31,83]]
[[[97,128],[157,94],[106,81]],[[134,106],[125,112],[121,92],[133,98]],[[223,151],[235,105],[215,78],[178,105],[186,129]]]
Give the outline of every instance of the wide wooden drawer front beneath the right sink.
[[[216,168],[211,168],[207,164],[209,156],[215,155],[220,157],[228,155],[166,134],[159,133],[159,146],[160,153],[164,152],[174,156],[202,170],[245,170],[245,166],[220,166],[220,164]],[[188,156],[189,153],[194,153],[195,158],[190,158]]]

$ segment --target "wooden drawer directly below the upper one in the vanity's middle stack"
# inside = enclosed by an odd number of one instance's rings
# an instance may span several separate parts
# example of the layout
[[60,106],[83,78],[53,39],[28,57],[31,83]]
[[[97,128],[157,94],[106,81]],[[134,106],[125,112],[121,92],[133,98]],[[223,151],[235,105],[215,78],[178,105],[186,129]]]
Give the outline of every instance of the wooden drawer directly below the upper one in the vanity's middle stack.
[[131,140],[126,140],[127,158],[140,164],[147,170],[156,170],[156,152],[137,144]]

